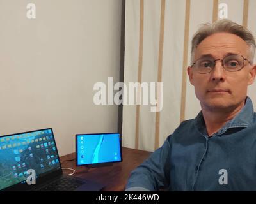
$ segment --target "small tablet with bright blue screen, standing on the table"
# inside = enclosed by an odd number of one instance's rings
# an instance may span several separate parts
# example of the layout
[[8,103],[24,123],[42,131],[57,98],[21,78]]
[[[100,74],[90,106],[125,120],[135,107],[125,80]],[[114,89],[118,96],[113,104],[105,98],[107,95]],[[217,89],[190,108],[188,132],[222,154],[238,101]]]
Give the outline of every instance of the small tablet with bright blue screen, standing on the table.
[[119,133],[76,135],[77,166],[122,161]]

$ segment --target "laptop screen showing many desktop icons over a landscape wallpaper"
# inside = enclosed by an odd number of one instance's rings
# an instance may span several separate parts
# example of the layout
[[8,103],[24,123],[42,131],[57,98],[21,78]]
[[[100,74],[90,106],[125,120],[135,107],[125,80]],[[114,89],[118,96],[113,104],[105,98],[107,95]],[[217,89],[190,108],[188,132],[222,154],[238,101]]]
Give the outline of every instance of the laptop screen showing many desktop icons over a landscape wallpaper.
[[0,136],[0,190],[61,168],[52,129]]

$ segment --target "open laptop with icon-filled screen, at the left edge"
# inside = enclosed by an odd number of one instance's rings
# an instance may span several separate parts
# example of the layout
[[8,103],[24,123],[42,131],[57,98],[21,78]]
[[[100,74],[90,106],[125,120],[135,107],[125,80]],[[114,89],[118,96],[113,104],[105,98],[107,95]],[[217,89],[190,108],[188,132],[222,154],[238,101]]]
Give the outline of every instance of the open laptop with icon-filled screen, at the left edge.
[[103,187],[63,175],[52,128],[0,136],[0,191],[100,191]]

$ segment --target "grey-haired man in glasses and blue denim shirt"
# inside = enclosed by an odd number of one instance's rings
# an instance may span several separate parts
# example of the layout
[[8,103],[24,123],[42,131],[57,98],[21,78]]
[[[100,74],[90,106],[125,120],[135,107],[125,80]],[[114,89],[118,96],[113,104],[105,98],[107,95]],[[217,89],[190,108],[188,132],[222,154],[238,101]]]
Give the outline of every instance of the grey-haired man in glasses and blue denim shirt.
[[230,20],[198,30],[188,75],[202,111],[132,171],[126,191],[256,191],[256,113],[247,96],[255,47]]

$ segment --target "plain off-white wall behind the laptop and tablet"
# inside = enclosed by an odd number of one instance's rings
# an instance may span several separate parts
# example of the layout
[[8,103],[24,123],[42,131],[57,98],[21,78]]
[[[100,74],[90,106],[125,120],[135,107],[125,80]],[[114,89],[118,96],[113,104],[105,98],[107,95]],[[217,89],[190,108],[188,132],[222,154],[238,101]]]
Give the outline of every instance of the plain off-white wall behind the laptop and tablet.
[[0,135],[52,127],[62,156],[76,133],[117,130],[118,106],[94,105],[93,84],[119,80],[121,6],[0,0]]

